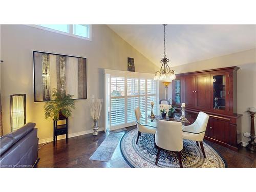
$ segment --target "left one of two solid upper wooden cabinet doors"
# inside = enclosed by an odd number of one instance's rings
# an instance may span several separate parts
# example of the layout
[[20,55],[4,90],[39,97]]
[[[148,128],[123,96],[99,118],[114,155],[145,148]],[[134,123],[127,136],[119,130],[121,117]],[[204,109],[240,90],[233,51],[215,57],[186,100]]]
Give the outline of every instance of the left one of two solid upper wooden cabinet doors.
[[184,102],[186,106],[195,106],[195,77],[184,77]]

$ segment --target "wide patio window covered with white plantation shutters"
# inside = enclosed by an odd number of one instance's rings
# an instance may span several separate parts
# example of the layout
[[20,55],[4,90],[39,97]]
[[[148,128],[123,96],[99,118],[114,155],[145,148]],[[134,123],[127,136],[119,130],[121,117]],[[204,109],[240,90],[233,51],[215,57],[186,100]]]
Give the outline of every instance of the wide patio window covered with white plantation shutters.
[[157,81],[154,74],[105,70],[105,127],[115,130],[136,124],[134,109],[138,106],[141,120],[151,114],[151,102],[157,112]]

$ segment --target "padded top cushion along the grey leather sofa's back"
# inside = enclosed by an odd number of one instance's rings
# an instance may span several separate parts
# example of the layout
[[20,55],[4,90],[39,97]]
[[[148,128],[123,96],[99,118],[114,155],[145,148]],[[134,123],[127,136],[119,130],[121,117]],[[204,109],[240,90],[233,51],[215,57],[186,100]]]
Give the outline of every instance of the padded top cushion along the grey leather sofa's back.
[[35,127],[35,123],[27,123],[20,127],[17,131],[9,133],[3,137],[9,137],[14,140],[14,143],[16,143],[18,140],[22,139],[25,135],[27,135],[29,132],[31,132]]

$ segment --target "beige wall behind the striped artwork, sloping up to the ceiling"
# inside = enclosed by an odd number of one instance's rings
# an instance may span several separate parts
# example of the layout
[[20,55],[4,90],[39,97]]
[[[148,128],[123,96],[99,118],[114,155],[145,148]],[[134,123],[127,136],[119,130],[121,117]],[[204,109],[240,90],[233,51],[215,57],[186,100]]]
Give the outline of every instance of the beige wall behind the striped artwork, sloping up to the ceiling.
[[[4,134],[10,132],[10,95],[27,94],[27,122],[35,122],[39,139],[52,137],[52,120],[44,118],[44,102],[33,102],[32,50],[86,57],[88,99],[77,100],[70,119],[70,133],[90,130],[92,95],[103,98],[103,69],[127,71],[127,57],[135,60],[136,72],[154,73],[156,66],[106,25],[92,26],[92,41],[61,35],[25,25],[2,25],[1,89]],[[104,109],[103,109],[104,110]],[[99,126],[104,126],[104,113]]]

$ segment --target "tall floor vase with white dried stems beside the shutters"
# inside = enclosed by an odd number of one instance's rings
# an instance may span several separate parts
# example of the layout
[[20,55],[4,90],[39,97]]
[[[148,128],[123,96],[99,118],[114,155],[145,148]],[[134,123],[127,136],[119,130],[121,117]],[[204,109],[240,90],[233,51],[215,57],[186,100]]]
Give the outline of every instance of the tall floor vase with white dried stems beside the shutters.
[[93,118],[93,135],[98,135],[98,121],[99,121],[99,116],[102,108],[102,100],[97,99],[97,101],[93,101],[91,105],[91,116]]

